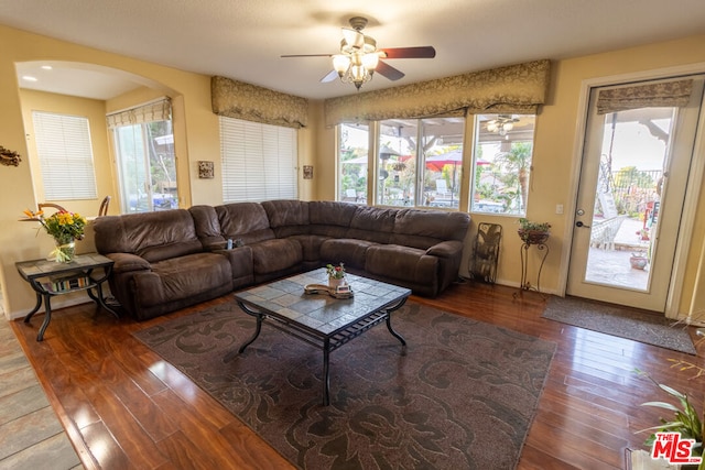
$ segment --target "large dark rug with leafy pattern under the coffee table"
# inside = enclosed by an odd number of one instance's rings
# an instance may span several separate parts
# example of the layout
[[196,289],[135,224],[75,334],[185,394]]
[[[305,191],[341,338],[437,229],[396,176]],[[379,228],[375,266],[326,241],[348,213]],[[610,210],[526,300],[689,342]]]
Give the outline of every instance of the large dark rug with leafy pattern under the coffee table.
[[512,469],[555,345],[408,303],[392,314],[406,354],[383,325],[330,353],[226,304],[135,337],[186,373],[299,468]]

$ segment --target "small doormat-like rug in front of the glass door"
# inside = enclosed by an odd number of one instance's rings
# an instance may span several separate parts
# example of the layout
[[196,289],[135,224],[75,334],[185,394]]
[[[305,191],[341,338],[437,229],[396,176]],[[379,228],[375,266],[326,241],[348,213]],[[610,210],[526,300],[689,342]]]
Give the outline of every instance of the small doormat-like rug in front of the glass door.
[[657,313],[579,297],[553,296],[541,316],[606,335],[696,354],[687,326],[676,325],[674,320]]

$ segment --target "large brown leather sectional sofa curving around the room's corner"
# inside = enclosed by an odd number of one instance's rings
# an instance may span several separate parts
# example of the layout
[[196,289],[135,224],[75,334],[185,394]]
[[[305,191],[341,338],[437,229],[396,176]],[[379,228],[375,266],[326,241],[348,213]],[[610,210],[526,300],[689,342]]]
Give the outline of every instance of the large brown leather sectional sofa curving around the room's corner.
[[[94,221],[110,289],[143,320],[327,263],[435,297],[458,276],[464,212],[275,200]],[[232,248],[227,249],[228,240]]]

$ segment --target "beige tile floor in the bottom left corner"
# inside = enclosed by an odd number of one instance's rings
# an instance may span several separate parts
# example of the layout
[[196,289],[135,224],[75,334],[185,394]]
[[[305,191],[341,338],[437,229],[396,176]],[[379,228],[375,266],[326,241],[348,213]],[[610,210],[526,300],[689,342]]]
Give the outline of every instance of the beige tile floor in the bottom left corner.
[[83,469],[10,324],[0,315],[0,469]]

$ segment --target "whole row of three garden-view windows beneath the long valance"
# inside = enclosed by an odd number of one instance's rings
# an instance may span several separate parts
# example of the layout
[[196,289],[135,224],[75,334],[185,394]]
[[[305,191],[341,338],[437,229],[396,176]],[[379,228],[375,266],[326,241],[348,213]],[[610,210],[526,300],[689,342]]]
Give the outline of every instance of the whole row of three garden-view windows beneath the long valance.
[[[338,198],[379,206],[460,209],[464,155],[473,154],[474,212],[524,216],[533,156],[534,114],[477,114],[465,149],[466,119],[388,119],[338,125]],[[469,125],[469,124],[468,124]],[[377,165],[369,166],[369,134]],[[469,155],[468,155],[469,159]],[[368,175],[375,196],[367,195]],[[463,192],[463,189],[465,192]]]

